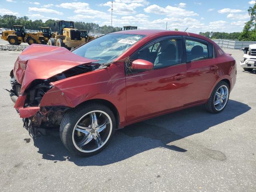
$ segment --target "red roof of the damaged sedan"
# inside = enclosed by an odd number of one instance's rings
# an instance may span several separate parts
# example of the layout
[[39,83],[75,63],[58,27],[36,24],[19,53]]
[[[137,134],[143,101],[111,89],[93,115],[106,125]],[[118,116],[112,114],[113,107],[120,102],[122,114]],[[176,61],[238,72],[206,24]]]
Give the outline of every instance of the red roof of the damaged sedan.
[[183,32],[183,31],[170,31],[170,30],[159,30],[159,29],[140,29],[140,30],[118,31],[118,32],[114,32],[112,34],[138,34],[138,35],[146,35],[146,36],[157,35],[157,34],[159,34],[160,36],[183,35],[183,36],[191,36],[191,37],[200,38],[202,40],[206,40],[206,41],[214,44],[214,42],[212,40],[210,40],[202,35],[198,35],[195,33],[189,33],[189,32]]

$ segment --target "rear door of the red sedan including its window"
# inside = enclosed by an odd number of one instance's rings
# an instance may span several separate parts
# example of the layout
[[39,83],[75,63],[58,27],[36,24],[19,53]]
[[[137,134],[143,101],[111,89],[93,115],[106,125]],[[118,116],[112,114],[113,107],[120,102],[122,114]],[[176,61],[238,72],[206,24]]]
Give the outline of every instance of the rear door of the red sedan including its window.
[[189,97],[185,105],[203,102],[218,79],[218,59],[213,45],[199,38],[184,37]]

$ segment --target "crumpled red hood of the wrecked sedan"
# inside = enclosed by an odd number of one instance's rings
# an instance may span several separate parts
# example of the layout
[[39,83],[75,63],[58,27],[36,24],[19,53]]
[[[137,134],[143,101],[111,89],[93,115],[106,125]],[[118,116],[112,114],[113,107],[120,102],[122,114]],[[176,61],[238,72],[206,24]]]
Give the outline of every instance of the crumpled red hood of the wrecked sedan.
[[48,79],[80,64],[96,60],[78,56],[64,47],[32,44],[14,64],[14,77],[22,85],[21,93],[36,79]]

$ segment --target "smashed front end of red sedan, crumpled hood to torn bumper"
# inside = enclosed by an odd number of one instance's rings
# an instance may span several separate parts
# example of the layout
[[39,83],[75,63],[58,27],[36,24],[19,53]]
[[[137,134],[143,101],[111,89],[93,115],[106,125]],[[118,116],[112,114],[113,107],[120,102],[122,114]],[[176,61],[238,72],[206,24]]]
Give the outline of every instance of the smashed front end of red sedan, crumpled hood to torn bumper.
[[[45,52],[38,54],[37,58],[33,56],[31,59],[28,54],[22,52],[23,58],[21,54],[14,65],[14,70],[10,72],[12,89],[8,91],[11,100],[23,119],[24,128],[33,138],[40,135],[59,134],[60,122],[70,109],[68,106],[62,106],[62,103],[58,104],[59,106],[40,105],[44,95],[53,88],[51,83],[90,72],[95,67],[95,65],[86,65],[95,60],[78,58],[78,61],[75,59],[76,56],[71,52],[66,52],[66,49],[56,50],[58,51],[55,52],[62,54],[62,60],[53,61],[53,64],[49,60],[41,59],[44,58]],[[26,49],[24,52],[28,51]],[[70,54],[72,55],[70,56]],[[51,67],[56,70],[49,70],[48,68]]]

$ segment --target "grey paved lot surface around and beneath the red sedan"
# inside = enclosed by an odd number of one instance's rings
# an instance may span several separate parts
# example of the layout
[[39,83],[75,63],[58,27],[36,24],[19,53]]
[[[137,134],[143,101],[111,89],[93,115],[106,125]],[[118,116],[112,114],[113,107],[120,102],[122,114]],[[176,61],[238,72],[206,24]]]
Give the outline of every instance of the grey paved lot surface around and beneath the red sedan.
[[[221,114],[203,106],[128,126],[100,154],[71,156],[58,137],[30,139],[0,95],[0,191],[256,191],[256,72],[243,72]],[[20,52],[0,51],[0,85]]]

